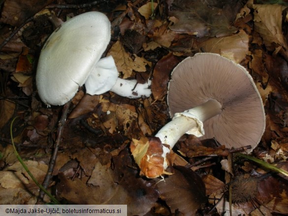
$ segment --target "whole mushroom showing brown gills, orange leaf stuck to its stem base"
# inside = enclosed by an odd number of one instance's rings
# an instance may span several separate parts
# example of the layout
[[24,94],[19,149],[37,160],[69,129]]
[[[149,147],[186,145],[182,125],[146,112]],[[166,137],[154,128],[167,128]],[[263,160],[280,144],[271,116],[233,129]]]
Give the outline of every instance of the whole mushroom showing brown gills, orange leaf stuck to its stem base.
[[252,77],[243,66],[218,54],[196,54],[180,62],[171,75],[167,102],[172,121],[156,138],[133,140],[130,145],[148,178],[166,173],[170,150],[185,133],[215,137],[231,148],[254,149],[265,129],[264,108]]

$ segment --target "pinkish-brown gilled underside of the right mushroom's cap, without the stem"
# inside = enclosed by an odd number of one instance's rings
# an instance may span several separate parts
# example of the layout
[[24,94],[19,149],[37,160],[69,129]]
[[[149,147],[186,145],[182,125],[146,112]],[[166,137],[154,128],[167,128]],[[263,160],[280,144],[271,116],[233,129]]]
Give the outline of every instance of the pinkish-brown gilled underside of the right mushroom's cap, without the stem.
[[265,129],[260,94],[248,71],[218,54],[199,53],[180,62],[168,85],[170,116],[209,99],[222,105],[222,113],[204,122],[205,135],[221,145],[254,149]]

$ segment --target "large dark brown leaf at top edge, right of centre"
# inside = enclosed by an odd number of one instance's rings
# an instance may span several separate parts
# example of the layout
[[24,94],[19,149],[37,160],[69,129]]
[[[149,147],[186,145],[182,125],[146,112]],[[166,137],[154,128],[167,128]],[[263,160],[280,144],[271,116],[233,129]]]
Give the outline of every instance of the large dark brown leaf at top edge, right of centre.
[[[174,25],[169,28],[178,33],[188,33],[197,37],[222,37],[235,33],[232,26],[237,12],[236,1],[229,5],[221,1],[174,0],[169,12],[169,20],[173,18]],[[240,8],[239,8],[240,9]],[[235,14],[234,14],[235,13]]]

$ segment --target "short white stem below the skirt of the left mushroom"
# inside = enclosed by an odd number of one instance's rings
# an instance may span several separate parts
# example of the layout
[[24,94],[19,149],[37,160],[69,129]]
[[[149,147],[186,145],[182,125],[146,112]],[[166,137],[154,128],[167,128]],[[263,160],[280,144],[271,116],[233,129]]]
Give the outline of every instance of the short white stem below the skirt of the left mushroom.
[[148,83],[140,84],[137,83],[137,80],[117,78],[116,83],[110,91],[129,98],[149,97],[151,95],[151,89],[149,89],[150,85],[150,80]]

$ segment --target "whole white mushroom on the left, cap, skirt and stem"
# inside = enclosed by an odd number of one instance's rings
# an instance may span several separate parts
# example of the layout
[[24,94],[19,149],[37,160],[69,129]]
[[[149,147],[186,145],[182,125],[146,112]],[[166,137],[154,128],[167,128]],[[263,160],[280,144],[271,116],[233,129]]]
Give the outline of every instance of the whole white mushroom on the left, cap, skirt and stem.
[[47,106],[63,105],[84,84],[88,94],[110,90],[129,98],[150,96],[150,81],[121,79],[111,56],[100,59],[110,38],[107,16],[96,11],[75,16],[56,29],[38,61],[36,85],[41,100]]

